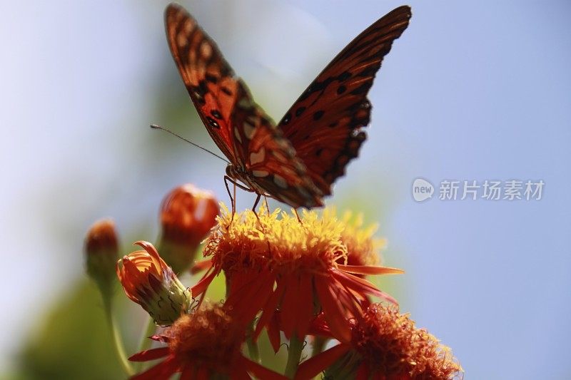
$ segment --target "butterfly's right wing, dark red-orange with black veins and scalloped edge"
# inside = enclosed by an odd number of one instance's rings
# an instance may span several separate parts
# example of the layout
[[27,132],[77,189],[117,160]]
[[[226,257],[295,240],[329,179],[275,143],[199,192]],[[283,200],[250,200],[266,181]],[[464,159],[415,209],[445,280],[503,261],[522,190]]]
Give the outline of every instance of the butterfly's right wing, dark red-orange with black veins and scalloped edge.
[[370,121],[367,93],[410,16],[410,7],[400,6],[365,29],[333,58],[278,124],[325,195],[359,153],[366,138],[361,128]]

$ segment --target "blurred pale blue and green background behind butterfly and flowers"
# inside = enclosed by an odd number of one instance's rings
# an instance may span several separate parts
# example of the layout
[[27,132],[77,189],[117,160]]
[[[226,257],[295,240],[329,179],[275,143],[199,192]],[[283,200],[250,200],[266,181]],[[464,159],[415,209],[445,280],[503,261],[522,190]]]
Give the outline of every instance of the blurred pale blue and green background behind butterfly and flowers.
[[[275,120],[401,4],[181,3]],[[370,91],[368,141],[328,204],[380,224],[385,263],[406,270],[381,286],[453,349],[466,379],[570,379],[571,4],[409,3],[410,26]],[[166,4],[0,4],[0,378],[121,379],[84,275],[86,230],[113,217],[127,252],[155,239],[176,185],[228,202],[223,162],[148,128],[218,151],[168,51]],[[539,201],[418,203],[418,177],[545,188]],[[238,208],[251,205],[239,192]],[[122,326],[131,354],[144,312],[122,294],[118,304],[133,316]]]

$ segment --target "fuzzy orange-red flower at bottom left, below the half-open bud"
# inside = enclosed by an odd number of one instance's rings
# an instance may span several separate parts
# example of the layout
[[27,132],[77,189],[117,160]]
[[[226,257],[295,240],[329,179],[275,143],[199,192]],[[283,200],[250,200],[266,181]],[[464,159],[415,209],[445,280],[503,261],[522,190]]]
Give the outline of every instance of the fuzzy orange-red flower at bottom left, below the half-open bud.
[[169,379],[177,372],[181,379],[250,379],[249,374],[258,379],[285,379],[243,356],[245,327],[235,323],[219,304],[183,315],[166,334],[151,339],[168,346],[142,351],[129,360],[164,359],[134,379]]

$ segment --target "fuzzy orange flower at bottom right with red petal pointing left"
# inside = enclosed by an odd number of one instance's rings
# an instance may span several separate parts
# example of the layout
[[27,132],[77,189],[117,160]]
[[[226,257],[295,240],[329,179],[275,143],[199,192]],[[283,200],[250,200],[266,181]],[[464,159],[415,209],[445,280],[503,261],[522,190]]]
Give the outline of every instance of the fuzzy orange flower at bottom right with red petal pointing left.
[[[323,331],[323,330],[322,330]],[[351,379],[449,380],[463,370],[450,349],[425,329],[417,329],[398,307],[371,304],[353,319],[351,342],[304,361],[295,379],[312,379],[321,371]]]

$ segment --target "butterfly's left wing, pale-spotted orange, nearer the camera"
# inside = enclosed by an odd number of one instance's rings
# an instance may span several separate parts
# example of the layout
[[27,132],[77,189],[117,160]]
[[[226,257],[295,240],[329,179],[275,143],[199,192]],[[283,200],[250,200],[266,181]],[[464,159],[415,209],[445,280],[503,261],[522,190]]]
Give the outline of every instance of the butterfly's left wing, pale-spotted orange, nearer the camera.
[[252,190],[293,207],[321,205],[322,192],[281,130],[254,103],[216,43],[177,4],[165,11],[168,45],[206,130]]

